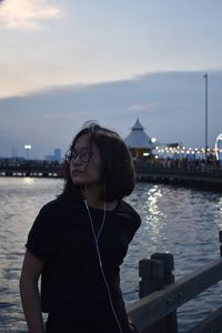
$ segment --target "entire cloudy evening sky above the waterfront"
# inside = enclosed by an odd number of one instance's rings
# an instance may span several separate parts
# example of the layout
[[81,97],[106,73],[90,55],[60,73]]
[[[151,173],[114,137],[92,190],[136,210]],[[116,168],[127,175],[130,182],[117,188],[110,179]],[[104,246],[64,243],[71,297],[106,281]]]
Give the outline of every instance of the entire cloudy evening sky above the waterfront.
[[221,0],[0,0],[0,157],[64,154],[97,120],[123,139],[222,132]]

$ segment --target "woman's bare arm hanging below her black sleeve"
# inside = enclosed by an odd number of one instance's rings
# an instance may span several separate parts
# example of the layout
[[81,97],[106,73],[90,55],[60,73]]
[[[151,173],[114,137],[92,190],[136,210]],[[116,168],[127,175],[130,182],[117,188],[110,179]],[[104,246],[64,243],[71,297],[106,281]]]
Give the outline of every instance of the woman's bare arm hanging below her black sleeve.
[[37,259],[27,250],[20,278],[20,295],[30,333],[44,332],[38,287],[42,269],[43,261]]

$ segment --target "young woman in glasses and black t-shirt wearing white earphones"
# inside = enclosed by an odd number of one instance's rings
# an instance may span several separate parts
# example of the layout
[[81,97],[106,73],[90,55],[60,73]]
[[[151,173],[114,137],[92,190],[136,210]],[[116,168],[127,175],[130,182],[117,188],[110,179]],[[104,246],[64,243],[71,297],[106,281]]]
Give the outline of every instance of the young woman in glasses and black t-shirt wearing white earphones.
[[115,132],[91,123],[71,143],[64,180],[62,194],[41,209],[26,244],[20,292],[29,332],[135,332],[119,269],[141,223],[123,201],[134,188],[129,150]]

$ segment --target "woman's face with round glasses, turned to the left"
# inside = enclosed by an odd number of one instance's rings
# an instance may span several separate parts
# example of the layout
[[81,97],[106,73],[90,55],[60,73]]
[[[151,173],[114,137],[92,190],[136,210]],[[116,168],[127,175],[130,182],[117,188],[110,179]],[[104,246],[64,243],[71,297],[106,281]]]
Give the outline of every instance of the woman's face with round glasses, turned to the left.
[[101,155],[94,143],[90,147],[89,134],[81,135],[72,148],[70,175],[75,185],[101,182]]

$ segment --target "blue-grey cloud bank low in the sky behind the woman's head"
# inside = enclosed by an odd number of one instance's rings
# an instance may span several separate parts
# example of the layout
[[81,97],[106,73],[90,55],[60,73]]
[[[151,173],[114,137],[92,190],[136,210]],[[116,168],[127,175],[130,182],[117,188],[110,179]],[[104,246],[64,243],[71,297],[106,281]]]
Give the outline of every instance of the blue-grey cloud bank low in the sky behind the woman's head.
[[[222,72],[209,72],[209,147],[221,133]],[[68,143],[95,119],[125,138],[137,118],[159,142],[204,145],[202,72],[159,72],[117,82],[57,87],[30,95],[0,99],[0,157],[31,143],[42,158]]]

